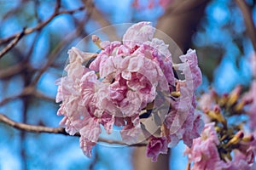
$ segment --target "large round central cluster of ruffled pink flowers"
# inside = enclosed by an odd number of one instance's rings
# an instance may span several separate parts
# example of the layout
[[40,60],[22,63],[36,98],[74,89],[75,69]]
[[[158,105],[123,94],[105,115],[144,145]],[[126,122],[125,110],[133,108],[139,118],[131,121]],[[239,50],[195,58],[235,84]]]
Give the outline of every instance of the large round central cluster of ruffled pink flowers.
[[[195,50],[189,49],[180,56],[182,63],[174,65],[168,45],[154,38],[154,31],[151,23],[140,22],[125,32],[122,42],[101,42],[94,36],[99,54],[69,50],[67,76],[56,82],[56,102],[62,101],[58,115],[64,116],[60,124],[67,133],[80,133],[86,156],[91,156],[102,127],[107,133],[121,127],[125,144],[148,139],[152,161],[179,139],[191,146],[200,136],[203,122],[195,114],[195,88],[201,70]],[[174,76],[173,68],[183,73],[183,80]]]

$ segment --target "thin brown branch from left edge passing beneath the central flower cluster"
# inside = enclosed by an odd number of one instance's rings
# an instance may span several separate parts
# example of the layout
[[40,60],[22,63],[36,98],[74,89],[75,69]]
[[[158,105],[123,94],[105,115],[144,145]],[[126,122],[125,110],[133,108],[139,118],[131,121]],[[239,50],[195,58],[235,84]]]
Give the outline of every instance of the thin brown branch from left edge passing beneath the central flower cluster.
[[[10,127],[14,127],[21,131],[26,131],[30,133],[55,133],[55,134],[63,134],[63,135],[71,136],[69,133],[65,131],[65,128],[63,127],[44,127],[44,126],[36,126],[36,125],[29,125],[26,123],[15,122],[11,120],[8,116],[3,115],[2,113],[0,113],[0,122],[3,122],[4,124],[9,125]],[[75,133],[73,136],[80,136],[80,134]],[[102,139],[102,138],[99,138],[98,141],[108,143],[108,144],[127,145],[120,141]],[[145,145],[146,143],[140,143],[140,144],[131,144],[129,146],[145,146]]]

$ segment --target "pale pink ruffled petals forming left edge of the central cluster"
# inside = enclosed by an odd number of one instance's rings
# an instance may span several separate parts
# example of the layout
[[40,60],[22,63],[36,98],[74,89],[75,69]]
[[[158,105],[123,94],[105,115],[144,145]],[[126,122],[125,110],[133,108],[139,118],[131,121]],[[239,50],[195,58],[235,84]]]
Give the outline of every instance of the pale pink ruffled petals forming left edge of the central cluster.
[[[81,84],[84,75],[85,77],[90,75],[92,78],[96,76],[93,72],[88,72],[89,70],[82,65],[84,61],[95,54],[83,53],[78,48],[72,48],[68,53],[70,63],[65,68],[67,77],[62,77],[56,81],[56,84],[59,85],[56,102],[62,101],[58,115],[64,116],[60,124],[66,127],[67,133],[71,135],[77,132],[81,134],[80,143],[84,148],[84,154],[91,156],[91,147],[96,144],[101,128],[98,120],[91,117],[86,107],[82,105]],[[87,80],[90,80],[90,78]],[[91,97],[87,99],[91,99]]]

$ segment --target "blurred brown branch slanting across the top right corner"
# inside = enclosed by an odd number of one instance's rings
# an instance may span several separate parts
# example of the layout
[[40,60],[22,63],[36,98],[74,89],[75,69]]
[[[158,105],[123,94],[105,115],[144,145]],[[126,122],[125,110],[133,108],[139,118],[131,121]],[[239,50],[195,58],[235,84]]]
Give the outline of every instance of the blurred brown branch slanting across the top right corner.
[[247,26],[247,35],[250,37],[253,43],[253,49],[256,52],[256,29],[253,22],[252,12],[247,7],[247,3],[244,0],[235,0],[237,6],[241,9],[245,25]]

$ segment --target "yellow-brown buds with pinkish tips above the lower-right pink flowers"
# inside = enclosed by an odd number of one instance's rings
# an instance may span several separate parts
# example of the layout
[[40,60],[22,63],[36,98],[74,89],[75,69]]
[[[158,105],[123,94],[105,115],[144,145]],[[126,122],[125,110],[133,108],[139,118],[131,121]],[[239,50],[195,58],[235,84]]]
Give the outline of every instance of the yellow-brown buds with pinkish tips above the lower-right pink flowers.
[[245,121],[236,120],[230,122],[227,120],[231,116],[241,116],[245,114],[245,106],[253,102],[253,99],[241,99],[241,85],[236,86],[230,94],[218,95],[212,91],[212,99],[215,103],[213,109],[205,108],[203,112],[210,118],[211,122],[215,122],[215,130],[218,133],[218,152],[222,160],[232,161],[230,155],[233,150],[239,150],[241,144],[253,142],[253,134],[245,136],[242,132]]

